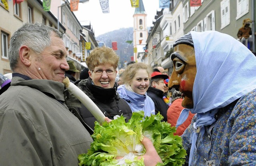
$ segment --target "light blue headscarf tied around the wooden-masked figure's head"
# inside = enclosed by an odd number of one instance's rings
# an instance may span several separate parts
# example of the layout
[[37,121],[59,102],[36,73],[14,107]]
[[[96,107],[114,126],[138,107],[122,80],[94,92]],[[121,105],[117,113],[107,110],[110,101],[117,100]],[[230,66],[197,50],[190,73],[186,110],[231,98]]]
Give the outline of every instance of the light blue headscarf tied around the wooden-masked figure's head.
[[[193,124],[189,166],[196,148],[198,133],[216,121],[219,108],[256,89],[256,57],[242,43],[218,31],[190,32],[194,42],[196,77],[192,109],[183,109],[176,127],[196,113]],[[200,138],[200,141],[202,137]]]

